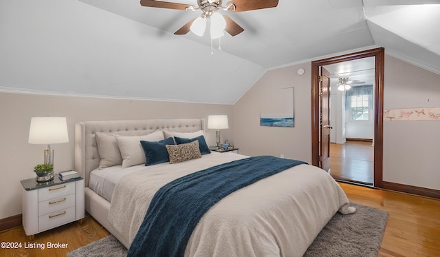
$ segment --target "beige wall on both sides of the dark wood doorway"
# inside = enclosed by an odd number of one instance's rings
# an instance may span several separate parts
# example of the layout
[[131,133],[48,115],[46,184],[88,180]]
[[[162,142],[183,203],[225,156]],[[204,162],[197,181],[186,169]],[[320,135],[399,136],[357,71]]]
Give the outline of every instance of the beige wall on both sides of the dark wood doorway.
[[[298,76],[298,68],[306,73]],[[385,57],[384,108],[440,107],[440,75]],[[267,72],[234,105],[234,142],[246,155],[311,161],[310,64]],[[294,86],[295,127],[261,127],[272,90]],[[429,99],[429,101],[428,101]],[[384,121],[384,181],[440,190],[440,121]]]

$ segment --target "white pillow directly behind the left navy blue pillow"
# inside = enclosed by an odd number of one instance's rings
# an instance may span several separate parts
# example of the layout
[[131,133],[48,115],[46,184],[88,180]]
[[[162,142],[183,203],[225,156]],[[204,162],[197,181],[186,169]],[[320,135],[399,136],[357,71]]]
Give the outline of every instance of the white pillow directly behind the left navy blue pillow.
[[122,168],[145,163],[145,154],[140,141],[160,141],[164,139],[162,131],[145,136],[118,136],[115,135],[122,156]]

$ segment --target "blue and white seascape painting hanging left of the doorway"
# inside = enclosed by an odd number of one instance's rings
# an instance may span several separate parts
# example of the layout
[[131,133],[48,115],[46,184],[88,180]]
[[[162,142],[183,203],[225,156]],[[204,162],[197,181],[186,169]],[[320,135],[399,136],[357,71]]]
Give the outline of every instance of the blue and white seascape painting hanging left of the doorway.
[[269,106],[260,113],[260,125],[267,127],[294,127],[294,88],[274,90],[266,96]]

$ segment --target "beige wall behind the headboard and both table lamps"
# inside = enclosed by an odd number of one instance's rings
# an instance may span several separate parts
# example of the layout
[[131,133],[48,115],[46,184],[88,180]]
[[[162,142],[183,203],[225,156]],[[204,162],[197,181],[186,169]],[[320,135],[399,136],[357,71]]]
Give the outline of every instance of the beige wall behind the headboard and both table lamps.
[[[45,145],[28,144],[32,116],[65,116],[69,143],[52,145],[56,172],[74,168],[74,123],[118,119],[208,118],[228,114],[230,129],[222,139],[232,141],[232,105],[99,99],[72,96],[0,93],[0,219],[21,213],[21,183],[33,178],[36,164],[43,163]],[[206,130],[209,145],[215,132]],[[232,142],[233,143],[233,142]]]

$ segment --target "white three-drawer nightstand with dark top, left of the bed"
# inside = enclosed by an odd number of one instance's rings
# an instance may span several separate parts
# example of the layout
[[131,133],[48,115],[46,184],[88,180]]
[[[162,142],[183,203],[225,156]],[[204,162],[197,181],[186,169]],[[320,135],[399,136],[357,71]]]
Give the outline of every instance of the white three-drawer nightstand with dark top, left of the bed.
[[21,181],[23,228],[27,236],[84,218],[84,179],[39,183],[35,178]]

